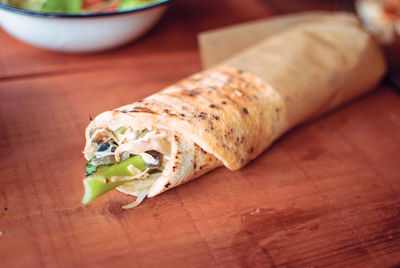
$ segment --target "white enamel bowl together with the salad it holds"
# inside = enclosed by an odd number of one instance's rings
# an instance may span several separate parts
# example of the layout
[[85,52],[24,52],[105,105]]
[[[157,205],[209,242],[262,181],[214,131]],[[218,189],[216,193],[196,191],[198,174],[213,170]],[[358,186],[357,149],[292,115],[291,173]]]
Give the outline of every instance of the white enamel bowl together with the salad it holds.
[[169,0],[0,0],[0,25],[15,38],[59,52],[115,48],[147,32]]

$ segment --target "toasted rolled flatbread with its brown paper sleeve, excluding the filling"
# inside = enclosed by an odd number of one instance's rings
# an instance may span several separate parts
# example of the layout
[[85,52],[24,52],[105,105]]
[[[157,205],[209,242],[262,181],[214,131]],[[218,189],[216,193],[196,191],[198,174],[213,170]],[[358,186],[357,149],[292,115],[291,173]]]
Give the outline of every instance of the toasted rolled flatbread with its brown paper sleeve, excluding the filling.
[[[353,15],[302,24],[98,115],[85,157],[97,129],[155,130],[169,144],[161,176],[118,188],[153,197],[222,165],[242,168],[287,130],[374,88],[385,71],[380,48]],[[157,149],[151,138],[132,146],[136,154]]]

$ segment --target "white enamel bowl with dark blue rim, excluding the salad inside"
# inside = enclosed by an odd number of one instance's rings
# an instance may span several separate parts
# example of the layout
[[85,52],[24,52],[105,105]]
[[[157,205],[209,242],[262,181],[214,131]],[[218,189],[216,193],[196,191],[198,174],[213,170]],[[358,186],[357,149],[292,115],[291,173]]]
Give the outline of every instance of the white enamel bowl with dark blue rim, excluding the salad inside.
[[54,14],[0,4],[0,24],[15,38],[60,52],[95,52],[126,44],[147,32],[169,0],[143,8],[98,14]]

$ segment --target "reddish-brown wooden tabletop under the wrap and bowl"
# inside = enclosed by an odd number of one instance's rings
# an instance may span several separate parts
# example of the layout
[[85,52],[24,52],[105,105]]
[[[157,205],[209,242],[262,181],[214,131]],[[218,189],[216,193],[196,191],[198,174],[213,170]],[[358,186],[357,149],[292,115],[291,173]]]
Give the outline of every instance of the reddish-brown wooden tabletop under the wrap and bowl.
[[[63,55],[0,32],[1,267],[389,267],[400,263],[400,98],[373,93],[291,131],[237,172],[82,206],[89,115],[199,71],[199,31],[273,14],[175,1],[118,50]],[[1,233],[0,233],[1,234]]]

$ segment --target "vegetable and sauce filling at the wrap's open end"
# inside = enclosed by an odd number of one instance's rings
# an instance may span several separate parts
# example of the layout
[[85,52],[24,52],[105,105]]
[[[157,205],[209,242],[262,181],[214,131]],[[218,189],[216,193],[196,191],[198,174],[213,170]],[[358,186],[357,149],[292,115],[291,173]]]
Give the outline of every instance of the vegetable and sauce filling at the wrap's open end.
[[82,203],[87,204],[119,187],[121,191],[137,196],[135,202],[123,208],[140,204],[170,159],[168,133],[130,127],[98,128],[89,137],[84,151],[90,160],[85,165],[87,177],[83,180]]

